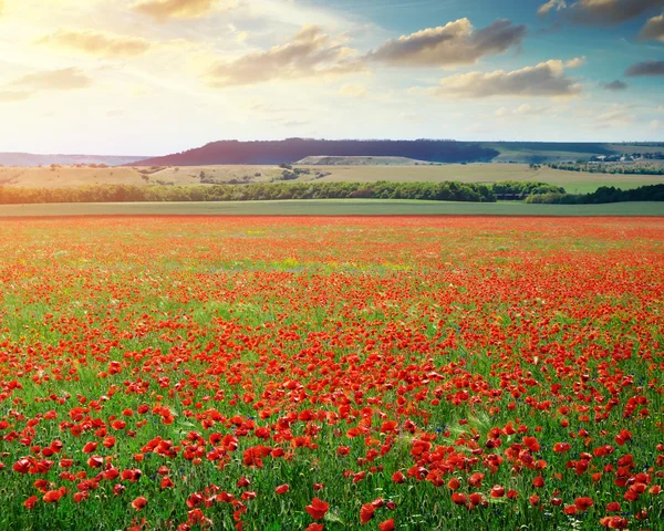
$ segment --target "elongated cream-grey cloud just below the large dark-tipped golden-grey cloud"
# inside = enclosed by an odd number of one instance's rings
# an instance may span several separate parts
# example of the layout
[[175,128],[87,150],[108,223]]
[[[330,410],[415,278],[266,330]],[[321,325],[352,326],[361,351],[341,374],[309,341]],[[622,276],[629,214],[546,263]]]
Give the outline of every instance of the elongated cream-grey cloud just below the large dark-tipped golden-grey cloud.
[[470,72],[440,80],[440,85],[426,91],[435,96],[480,98],[491,96],[575,96],[580,85],[564,74],[562,61],[551,60],[537,66],[506,72]]

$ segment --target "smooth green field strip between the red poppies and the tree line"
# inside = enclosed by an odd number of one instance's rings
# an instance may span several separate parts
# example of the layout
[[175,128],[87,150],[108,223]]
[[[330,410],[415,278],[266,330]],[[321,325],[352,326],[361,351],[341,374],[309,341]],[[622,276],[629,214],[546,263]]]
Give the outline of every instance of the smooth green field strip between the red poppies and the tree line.
[[378,199],[242,202],[106,202],[1,205],[0,217],[222,215],[222,216],[664,216],[662,202],[526,205]]

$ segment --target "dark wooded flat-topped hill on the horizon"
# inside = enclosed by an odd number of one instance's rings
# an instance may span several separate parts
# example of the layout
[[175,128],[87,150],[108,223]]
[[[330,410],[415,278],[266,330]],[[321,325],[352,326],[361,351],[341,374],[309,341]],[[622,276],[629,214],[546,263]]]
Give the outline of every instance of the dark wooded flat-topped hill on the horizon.
[[141,160],[141,166],[210,164],[294,164],[307,157],[404,157],[428,163],[489,162],[499,152],[479,143],[455,140],[221,140],[196,149]]

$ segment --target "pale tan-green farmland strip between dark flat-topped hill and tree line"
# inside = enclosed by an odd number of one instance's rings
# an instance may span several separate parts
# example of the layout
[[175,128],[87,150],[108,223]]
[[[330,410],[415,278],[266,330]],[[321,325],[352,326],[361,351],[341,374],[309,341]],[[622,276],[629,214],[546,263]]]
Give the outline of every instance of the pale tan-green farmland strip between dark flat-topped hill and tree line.
[[[570,194],[592,192],[600,186],[615,186],[623,189],[664,183],[656,175],[611,175],[564,171],[541,167],[532,169],[527,164],[448,164],[443,166],[295,166],[308,169],[298,180],[311,180],[317,174],[324,177],[318,181],[374,183],[387,181],[444,181],[497,183],[501,180],[540,181],[562,186]],[[141,174],[139,171],[146,171]],[[124,184],[154,186],[162,184],[176,186],[198,186],[200,175],[216,181],[237,180],[240,183],[269,183],[279,179],[283,169],[278,166],[181,166],[181,167],[108,167],[76,168],[63,166],[51,168],[4,167],[0,168],[0,185],[27,188],[77,187],[89,185]],[[328,175],[330,174],[330,175]]]

